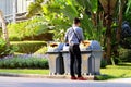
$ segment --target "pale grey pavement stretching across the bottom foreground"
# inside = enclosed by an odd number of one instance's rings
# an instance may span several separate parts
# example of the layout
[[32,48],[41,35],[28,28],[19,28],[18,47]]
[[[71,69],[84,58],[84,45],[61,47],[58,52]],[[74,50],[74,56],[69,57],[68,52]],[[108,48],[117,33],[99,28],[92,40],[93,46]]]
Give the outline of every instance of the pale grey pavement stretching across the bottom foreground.
[[0,87],[131,87],[131,78],[97,82],[0,76]]

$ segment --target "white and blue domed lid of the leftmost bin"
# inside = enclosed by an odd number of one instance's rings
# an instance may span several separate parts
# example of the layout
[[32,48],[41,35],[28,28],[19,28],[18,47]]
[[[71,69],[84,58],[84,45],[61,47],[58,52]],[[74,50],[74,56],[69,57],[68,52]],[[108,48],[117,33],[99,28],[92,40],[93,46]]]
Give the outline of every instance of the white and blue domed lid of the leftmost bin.
[[48,46],[47,52],[60,52],[63,49],[63,45],[61,42],[51,42]]

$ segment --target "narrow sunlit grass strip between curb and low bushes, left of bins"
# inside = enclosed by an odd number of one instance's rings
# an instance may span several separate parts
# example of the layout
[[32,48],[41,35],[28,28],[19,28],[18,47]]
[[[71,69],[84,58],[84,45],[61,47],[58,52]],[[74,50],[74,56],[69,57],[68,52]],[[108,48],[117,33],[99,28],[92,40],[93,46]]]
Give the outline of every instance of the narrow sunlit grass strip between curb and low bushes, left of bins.
[[49,75],[49,70],[31,70],[31,69],[0,69],[0,73],[15,73],[15,74],[43,74],[43,75]]

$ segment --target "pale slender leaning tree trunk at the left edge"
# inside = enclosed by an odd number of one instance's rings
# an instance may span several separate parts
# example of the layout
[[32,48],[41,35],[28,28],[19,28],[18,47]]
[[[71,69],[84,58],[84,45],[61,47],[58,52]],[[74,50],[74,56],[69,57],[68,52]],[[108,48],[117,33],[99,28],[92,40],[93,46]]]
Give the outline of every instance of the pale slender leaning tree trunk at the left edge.
[[0,22],[2,23],[2,34],[3,34],[2,37],[7,41],[7,46],[9,46],[10,42],[9,42],[8,29],[7,29],[5,21],[1,10],[0,10]]

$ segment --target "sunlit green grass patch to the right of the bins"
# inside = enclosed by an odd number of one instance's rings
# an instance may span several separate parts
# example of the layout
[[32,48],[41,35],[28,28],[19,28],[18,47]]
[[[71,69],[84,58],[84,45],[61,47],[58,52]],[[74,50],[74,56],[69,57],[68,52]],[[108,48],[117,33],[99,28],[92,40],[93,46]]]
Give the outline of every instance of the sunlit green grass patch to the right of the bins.
[[100,74],[102,76],[96,76],[98,79],[131,77],[131,63],[122,63],[119,65],[108,65],[106,69],[100,69]]

